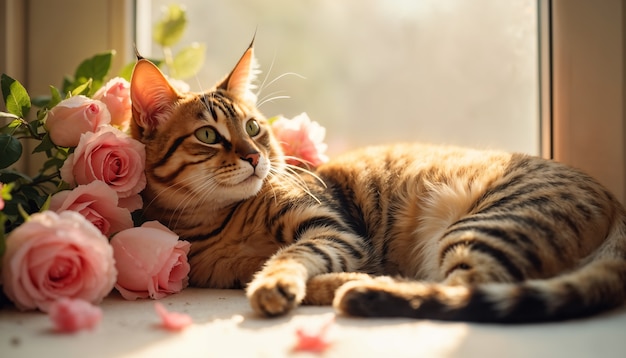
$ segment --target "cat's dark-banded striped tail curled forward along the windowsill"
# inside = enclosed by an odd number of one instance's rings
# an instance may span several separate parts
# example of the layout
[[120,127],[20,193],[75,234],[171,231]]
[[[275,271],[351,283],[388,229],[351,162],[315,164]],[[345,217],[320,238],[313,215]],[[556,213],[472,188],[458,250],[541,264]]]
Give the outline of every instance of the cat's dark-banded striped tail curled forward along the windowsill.
[[575,270],[519,283],[449,286],[391,278],[341,286],[334,306],[352,316],[530,323],[590,316],[626,303],[626,225]]

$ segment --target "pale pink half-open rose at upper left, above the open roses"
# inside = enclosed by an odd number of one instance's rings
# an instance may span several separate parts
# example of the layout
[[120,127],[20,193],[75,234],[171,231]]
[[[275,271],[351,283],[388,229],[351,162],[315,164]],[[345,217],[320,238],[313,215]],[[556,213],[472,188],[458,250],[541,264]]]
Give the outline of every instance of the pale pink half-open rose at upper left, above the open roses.
[[110,122],[111,114],[104,103],[85,96],[74,96],[50,109],[45,127],[54,144],[75,147],[81,134],[95,132],[98,127]]

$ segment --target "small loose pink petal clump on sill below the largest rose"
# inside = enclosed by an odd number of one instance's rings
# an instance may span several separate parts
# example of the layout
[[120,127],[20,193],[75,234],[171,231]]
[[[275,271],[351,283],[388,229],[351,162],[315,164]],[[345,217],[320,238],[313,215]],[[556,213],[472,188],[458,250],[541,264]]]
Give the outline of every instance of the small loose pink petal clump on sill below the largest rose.
[[85,300],[64,297],[50,305],[48,316],[58,332],[74,333],[98,326],[102,310]]

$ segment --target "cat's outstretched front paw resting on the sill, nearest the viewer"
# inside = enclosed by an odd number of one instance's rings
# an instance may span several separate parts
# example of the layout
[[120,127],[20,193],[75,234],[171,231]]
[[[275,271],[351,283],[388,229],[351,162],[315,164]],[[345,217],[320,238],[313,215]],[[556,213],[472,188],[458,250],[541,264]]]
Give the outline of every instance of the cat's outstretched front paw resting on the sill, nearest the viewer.
[[297,307],[305,292],[306,284],[298,278],[259,276],[250,283],[246,295],[255,312],[275,317]]

